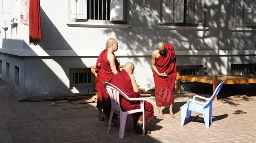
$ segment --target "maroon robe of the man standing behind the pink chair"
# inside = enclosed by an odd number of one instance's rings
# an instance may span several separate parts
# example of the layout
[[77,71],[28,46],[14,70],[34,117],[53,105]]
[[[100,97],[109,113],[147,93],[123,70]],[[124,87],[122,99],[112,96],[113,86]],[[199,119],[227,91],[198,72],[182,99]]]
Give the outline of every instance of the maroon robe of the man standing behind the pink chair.
[[[116,70],[117,72],[120,72],[119,69],[119,62],[115,57],[115,63],[116,63]],[[98,101],[97,101],[97,108],[103,109],[104,114],[110,114],[109,112],[109,106],[111,106],[111,101],[109,99],[108,101],[108,92],[105,91],[102,83],[105,81],[108,81],[111,77],[114,76],[110,63],[108,61],[108,49],[104,49],[100,54],[96,62],[96,68],[95,72],[97,73],[96,77],[96,89],[98,90]]]

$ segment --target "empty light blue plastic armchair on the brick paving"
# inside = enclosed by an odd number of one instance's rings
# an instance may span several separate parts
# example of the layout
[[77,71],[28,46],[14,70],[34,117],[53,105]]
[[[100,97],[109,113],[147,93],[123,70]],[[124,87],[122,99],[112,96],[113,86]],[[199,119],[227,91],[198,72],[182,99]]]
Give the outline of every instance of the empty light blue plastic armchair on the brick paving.
[[[190,120],[190,115],[192,111],[195,111],[203,114],[205,127],[209,128],[209,123],[212,123],[212,100],[218,95],[224,82],[225,81],[221,82],[217,86],[214,93],[212,94],[212,97],[206,98],[199,95],[195,95],[193,99],[189,99],[186,104],[181,106],[180,107],[180,110],[181,110],[180,125],[181,126],[184,125],[185,117],[186,117],[186,120]],[[207,100],[207,102],[202,103],[198,100],[195,100],[196,97]]]

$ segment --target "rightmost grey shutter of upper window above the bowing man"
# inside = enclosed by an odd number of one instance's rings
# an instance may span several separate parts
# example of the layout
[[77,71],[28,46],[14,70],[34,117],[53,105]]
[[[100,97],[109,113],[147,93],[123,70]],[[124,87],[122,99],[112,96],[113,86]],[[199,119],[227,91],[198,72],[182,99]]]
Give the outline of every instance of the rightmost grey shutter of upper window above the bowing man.
[[195,24],[204,24],[204,0],[195,0]]

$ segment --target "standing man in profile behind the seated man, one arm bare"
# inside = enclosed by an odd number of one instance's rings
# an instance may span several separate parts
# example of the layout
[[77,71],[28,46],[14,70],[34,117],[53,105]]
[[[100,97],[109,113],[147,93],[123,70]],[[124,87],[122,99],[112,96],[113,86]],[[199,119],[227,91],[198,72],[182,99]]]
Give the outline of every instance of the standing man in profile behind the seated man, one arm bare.
[[[98,101],[96,107],[99,110],[99,120],[105,120],[105,125],[108,125],[109,116],[111,112],[111,100],[108,93],[105,91],[102,83],[108,81],[115,74],[120,72],[119,59],[114,54],[118,50],[118,42],[114,38],[108,39],[105,49],[99,54],[96,62],[95,72],[96,77],[96,89],[98,90]],[[102,114],[105,114],[105,118]],[[117,124],[111,124],[111,126],[118,126]]]

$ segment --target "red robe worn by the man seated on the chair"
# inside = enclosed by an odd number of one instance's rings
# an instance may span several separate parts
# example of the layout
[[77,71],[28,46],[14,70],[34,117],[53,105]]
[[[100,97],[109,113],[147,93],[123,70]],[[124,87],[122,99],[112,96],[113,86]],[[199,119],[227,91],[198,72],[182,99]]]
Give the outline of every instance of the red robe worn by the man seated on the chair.
[[[133,91],[131,84],[131,77],[122,69],[121,72],[113,76],[109,81],[111,84],[122,90],[130,98],[138,98],[140,94]],[[120,96],[120,104],[122,111],[130,111],[140,108],[140,101],[128,101],[124,97]],[[144,101],[146,120],[154,118],[154,107],[151,103]],[[142,113],[137,117],[139,120],[143,120]]]

